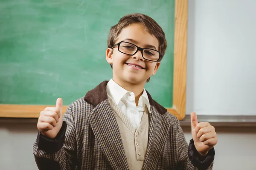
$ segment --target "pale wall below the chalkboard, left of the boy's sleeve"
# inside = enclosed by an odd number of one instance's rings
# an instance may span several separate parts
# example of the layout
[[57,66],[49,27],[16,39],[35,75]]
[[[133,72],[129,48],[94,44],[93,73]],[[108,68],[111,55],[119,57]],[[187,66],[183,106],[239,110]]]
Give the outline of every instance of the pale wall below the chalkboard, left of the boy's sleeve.
[[38,170],[32,146],[36,123],[0,122],[0,170]]

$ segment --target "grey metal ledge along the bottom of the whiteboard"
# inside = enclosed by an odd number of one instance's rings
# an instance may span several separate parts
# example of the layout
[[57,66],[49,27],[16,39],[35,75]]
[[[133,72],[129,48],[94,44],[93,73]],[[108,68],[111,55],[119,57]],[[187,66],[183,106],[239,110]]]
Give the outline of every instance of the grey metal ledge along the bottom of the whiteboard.
[[[256,127],[256,116],[198,115],[198,122],[209,122],[214,127]],[[180,126],[191,126],[190,115],[180,120]]]

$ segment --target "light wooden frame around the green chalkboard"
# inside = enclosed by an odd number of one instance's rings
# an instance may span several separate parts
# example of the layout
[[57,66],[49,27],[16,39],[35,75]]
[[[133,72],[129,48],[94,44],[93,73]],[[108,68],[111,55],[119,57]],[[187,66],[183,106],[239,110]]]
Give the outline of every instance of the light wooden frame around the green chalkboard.
[[[179,120],[185,117],[186,108],[187,11],[188,0],[175,0],[173,107],[167,109]],[[47,106],[1,104],[0,117],[38,118]],[[66,109],[64,106],[63,111]]]

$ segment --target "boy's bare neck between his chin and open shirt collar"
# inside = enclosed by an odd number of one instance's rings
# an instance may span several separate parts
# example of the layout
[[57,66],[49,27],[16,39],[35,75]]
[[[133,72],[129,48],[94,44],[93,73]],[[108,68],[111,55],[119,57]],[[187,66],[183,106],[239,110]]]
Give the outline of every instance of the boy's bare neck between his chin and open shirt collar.
[[118,79],[114,79],[114,78],[113,78],[113,81],[116,82],[118,85],[120,85],[125,90],[133,92],[135,95],[135,103],[136,103],[136,105],[139,104],[139,99],[140,99],[140,96],[143,94],[143,89],[144,89],[145,83],[132,84],[130,82],[123,82],[123,81],[119,81]]

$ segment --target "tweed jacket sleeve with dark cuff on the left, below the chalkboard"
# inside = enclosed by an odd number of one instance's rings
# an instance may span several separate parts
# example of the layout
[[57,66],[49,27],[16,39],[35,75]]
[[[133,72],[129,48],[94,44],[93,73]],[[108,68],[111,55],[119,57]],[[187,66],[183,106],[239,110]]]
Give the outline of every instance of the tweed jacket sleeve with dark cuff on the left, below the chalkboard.
[[68,106],[60,132],[54,139],[38,132],[33,154],[39,170],[74,170],[76,159],[76,129],[71,106]]

